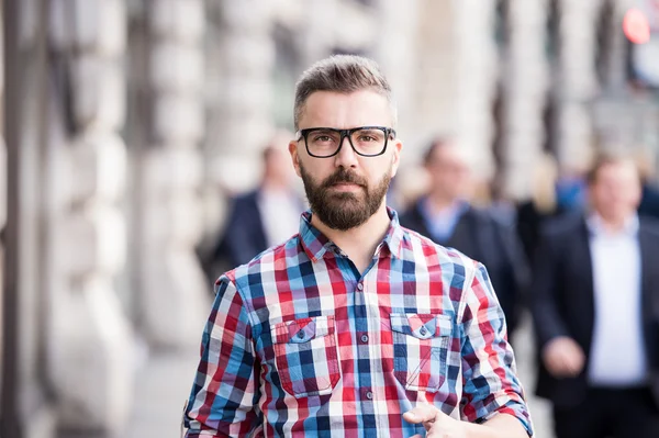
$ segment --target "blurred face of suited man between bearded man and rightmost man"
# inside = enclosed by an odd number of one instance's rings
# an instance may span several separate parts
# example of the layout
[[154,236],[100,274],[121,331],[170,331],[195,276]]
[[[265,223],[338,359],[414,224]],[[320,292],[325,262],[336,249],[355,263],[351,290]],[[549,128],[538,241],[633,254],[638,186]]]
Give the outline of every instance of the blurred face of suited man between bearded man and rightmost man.
[[444,199],[469,198],[471,192],[471,169],[467,155],[454,145],[435,148],[426,166],[431,176],[431,191]]

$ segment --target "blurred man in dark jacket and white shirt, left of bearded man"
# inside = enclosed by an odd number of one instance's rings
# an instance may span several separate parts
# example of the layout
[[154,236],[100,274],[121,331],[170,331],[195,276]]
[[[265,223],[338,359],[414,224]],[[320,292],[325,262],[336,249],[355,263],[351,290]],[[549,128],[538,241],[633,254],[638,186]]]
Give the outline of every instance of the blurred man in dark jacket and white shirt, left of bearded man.
[[284,141],[279,134],[264,149],[261,182],[233,201],[224,235],[212,251],[213,262],[224,261],[230,267],[246,263],[297,233],[294,224],[304,207],[291,184],[293,172],[284,148],[289,138]]

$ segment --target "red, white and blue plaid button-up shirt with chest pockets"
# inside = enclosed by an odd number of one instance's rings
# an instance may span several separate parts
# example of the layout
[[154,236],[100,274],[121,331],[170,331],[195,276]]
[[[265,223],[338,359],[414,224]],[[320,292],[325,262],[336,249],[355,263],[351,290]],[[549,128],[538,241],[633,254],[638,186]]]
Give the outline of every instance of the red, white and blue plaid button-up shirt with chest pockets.
[[532,424],[485,268],[399,225],[364,274],[319,229],[221,277],[187,437],[410,437],[418,403]]

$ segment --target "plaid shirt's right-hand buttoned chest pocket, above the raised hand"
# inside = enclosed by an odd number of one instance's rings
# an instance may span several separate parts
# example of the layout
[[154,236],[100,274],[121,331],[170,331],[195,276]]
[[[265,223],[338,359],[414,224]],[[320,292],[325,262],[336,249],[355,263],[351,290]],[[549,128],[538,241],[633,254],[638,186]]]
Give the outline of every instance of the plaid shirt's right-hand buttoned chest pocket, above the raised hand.
[[450,315],[391,314],[395,378],[410,391],[437,392],[446,380]]

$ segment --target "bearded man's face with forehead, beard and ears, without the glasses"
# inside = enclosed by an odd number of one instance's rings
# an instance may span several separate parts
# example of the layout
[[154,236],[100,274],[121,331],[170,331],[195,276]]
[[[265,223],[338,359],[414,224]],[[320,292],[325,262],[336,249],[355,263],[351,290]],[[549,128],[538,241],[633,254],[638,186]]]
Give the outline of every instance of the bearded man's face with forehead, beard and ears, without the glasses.
[[[387,99],[373,91],[349,94],[316,91],[309,97],[300,116],[300,130],[359,126],[393,127]],[[289,150],[302,178],[311,210],[328,227],[346,231],[364,224],[382,207],[389,182],[395,175],[402,144],[389,138],[384,154],[359,156],[348,138],[333,157],[308,154],[304,139],[293,141]]]

